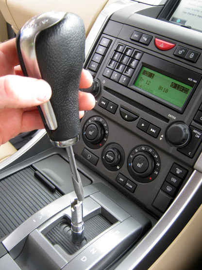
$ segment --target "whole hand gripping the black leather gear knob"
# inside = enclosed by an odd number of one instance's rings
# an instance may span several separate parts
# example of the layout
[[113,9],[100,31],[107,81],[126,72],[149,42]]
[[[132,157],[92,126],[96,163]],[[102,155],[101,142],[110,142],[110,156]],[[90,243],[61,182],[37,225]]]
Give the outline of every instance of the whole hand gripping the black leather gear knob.
[[[83,70],[80,88],[88,88],[92,76]],[[44,128],[36,106],[50,99],[50,85],[44,80],[23,77],[16,51],[16,39],[0,44],[0,145],[21,132]],[[92,94],[79,91],[79,115],[95,106]]]

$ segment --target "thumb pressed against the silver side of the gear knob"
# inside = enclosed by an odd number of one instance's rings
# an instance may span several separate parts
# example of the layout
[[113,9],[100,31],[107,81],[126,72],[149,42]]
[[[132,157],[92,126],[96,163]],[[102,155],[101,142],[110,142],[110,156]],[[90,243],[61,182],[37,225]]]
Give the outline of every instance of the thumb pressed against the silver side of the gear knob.
[[44,80],[6,75],[0,77],[0,108],[27,108],[47,102],[50,85]]

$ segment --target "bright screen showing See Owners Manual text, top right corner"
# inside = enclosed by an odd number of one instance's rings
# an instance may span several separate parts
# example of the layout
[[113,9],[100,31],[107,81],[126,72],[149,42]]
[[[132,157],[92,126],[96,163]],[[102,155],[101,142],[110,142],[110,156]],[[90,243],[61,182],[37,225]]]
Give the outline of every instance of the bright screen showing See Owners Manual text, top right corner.
[[181,0],[169,21],[202,31],[202,0]]

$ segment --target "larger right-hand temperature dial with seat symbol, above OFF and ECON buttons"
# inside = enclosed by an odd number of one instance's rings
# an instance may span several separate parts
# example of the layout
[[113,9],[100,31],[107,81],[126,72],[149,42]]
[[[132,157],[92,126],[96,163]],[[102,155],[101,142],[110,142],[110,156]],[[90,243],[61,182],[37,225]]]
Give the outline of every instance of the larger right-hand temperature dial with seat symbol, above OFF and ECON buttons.
[[129,155],[128,170],[135,180],[142,183],[150,182],[159,174],[159,156],[151,147],[140,145]]

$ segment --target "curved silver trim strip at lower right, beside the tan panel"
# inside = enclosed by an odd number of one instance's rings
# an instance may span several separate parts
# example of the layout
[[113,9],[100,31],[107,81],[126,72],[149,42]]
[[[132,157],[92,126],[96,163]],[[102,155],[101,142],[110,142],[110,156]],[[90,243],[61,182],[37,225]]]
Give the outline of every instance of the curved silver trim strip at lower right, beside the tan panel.
[[[116,270],[121,270],[123,268],[128,270],[141,269],[138,264],[142,260],[146,260],[146,256],[153,248],[158,244],[162,244],[160,241],[163,241],[168,230],[175,222],[177,222],[177,219],[182,213],[186,211],[186,206],[194,198],[199,189],[202,189],[202,173],[195,170],[166,213],[159,219],[156,225],[132,250],[132,252],[130,252],[130,254],[118,265]],[[154,257],[154,261],[155,260],[156,258]]]

